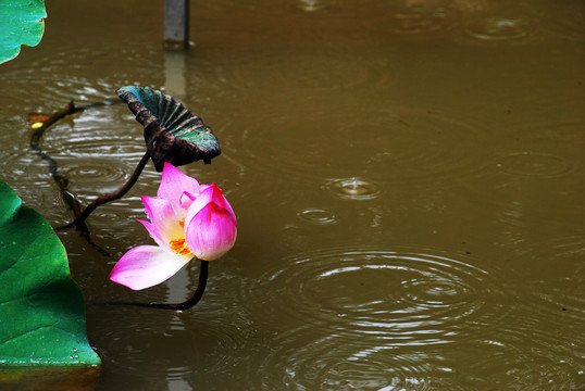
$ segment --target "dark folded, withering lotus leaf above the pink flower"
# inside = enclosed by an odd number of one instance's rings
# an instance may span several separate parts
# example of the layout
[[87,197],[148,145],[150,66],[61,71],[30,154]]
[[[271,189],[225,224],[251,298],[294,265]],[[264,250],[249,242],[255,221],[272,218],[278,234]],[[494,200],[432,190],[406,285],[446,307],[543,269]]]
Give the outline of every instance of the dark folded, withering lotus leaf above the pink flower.
[[171,96],[148,87],[122,87],[119,97],[145,127],[148,152],[158,172],[164,162],[175,166],[211,159],[221,153],[211,128]]

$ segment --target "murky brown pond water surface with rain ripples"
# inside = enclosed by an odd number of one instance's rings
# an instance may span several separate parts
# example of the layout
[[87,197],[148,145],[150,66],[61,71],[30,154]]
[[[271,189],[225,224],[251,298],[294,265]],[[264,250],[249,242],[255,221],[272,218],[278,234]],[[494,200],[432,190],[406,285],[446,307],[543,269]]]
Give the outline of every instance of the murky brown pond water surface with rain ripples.
[[[159,287],[109,280],[151,244],[123,199],[61,230],[103,358],[98,390],[576,390],[585,387],[585,4],[191,2],[186,53],[162,1],[48,1],[37,48],[0,67],[0,167],[53,226],[72,219],[30,112],[163,89],[222,155],[182,167],[224,189],[235,248],[184,313],[198,264]],[[50,128],[88,203],[145,152],[125,104]],[[42,383],[40,386],[42,388]]]

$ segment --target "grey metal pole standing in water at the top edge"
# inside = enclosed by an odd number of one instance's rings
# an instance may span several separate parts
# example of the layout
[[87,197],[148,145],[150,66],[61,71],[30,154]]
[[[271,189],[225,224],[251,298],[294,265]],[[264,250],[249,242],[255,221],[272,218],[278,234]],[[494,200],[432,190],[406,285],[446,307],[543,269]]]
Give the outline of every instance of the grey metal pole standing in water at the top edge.
[[189,47],[189,0],[164,0],[164,45],[173,49]]

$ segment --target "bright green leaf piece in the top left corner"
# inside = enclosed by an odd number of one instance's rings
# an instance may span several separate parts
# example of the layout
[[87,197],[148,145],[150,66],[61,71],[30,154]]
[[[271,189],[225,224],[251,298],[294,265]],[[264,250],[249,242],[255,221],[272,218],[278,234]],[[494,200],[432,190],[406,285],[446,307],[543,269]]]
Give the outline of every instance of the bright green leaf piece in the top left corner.
[[0,64],[18,55],[21,45],[40,42],[45,17],[43,0],[0,0]]

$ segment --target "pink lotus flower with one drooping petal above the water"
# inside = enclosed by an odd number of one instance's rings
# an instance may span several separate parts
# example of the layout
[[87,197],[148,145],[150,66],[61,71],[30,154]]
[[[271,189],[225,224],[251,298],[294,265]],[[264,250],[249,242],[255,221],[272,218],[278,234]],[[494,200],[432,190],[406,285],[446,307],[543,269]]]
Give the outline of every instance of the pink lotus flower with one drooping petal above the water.
[[215,184],[199,185],[165,163],[157,198],[142,197],[142,203],[150,222],[138,222],[158,245],[138,245],[124,254],[110,275],[114,282],[150,288],[194,257],[213,261],[234,247],[236,215]]

